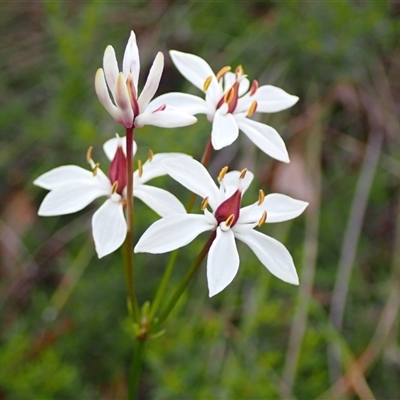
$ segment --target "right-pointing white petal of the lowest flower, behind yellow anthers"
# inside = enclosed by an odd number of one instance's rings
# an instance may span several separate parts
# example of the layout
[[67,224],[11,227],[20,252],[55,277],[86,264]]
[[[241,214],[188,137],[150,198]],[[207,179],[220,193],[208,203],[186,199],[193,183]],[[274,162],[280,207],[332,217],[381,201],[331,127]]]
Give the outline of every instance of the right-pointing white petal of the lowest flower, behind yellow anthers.
[[261,218],[263,211],[267,213],[266,222],[282,222],[298,217],[308,206],[306,201],[296,200],[284,194],[272,193],[265,197],[264,202],[258,206],[251,206],[240,210],[240,223],[254,223]]

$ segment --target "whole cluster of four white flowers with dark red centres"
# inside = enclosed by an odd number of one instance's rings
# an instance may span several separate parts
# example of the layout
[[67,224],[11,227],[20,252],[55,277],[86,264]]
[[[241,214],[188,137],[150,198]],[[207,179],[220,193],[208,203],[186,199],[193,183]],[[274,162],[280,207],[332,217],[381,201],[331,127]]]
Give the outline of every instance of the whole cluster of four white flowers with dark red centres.
[[[223,67],[217,74],[200,57],[179,51],[170,56],[180,73],[205,94],[205,98],[185,93],[166,93],[157,98],[164,67],[159,52],[139,95],[139,51],[131,32],[122,62],[118,67],[115,51],[108,46],[103,68],[95,77],[95,90],[101,104],[114,120],[125,127],[126,137],[115,137],[104,144],[110,160],[108,174],[87,153],[90,170],[76,165],[55,168],[35,180],[49,190],[39,215],[53,216],[82,210],[98,197],[105,202],[92,218],[93,239],[99,257],[118,249],[131,229],[126,217],[133,196],[152,208],[161,219],[152,224],[134,247],[134,252],[165,253],[193,241],[203,232],[211,232],[207,257],[209,295],[221,292],[233,280],[239,268],[236,240],[245,243],[260,262],[285,282],[298,284],[292,257],[277,240],[255,230],[264,223],[286,221],[300,215],[307,203],[283,194],[259,192],[257,201],[242,207],[242,197],[254,175],[244,169],[225,167],[218,176],[219,186],[206,166],[182,153],[152,154],[133,171],[136,153],[133,132],[144,125],[164,128],[194,124],[195,115],[205,114],[211,123],[210,141],[219,150],[232,144],[243,132],[269,156],[288,163],[289,155],[278,132],[252,119],[256,113],[273,113],[294,105],[298,98],[271,85],[250,81],[242,66],[234,72]],[[182,203],[165,189],[150,186],[155,177],[169,175],[203,201],[202,213],[186,211]],[[173,233],[173,234],[171,234]]]

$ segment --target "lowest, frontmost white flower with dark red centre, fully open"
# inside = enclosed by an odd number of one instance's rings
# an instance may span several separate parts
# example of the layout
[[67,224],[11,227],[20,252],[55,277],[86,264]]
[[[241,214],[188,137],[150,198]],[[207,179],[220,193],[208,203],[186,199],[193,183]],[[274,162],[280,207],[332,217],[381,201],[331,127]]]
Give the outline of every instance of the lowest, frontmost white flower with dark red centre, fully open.
[[[207,259],[209,295],[219,293],[232,282],[239,268],[235,239],[246,243],[261,263],[285,282],[298,284],[293,259],[286,247],[254,228],[264,222],[287,221],[300,215],[308,203],[283,194],[260,197],[254,204],[240,208],[242,194],[253,174],[247,170],[219,176],[220,187],[197,161],[176,158],[164,161],[168,174],[183,186],[204,198],[204,214],[174,214],[151,225],[136,244],[134,251],[165,253],[185,246],[199,234],[215,231]],[[224,175],[225,174],[225,175]],[[207,210],[210,205],[212,212]],[[171,235],[171,232],[174,232]]]

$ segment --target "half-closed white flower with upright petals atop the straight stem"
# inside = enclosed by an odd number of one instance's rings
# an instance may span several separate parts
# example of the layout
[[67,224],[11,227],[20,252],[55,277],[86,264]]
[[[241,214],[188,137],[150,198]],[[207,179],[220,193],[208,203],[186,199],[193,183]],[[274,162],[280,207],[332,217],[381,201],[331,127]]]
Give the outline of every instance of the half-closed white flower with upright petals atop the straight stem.
[[96,93],[101,104],[119,124],[127,128],[144,125],[173,128],[191,125],[197,121],[195,117],[165,103],[159,104],[157,107],[149,107],[149,102],[158,88],[164,68],[164,56],[161,52],[154,59],[146,84],[138,96],[140,61],[133,31],[131,31],[125,49],[122,72],[119,72],[112,46],[107,46],[104,52],[103,68],[104,71],[100,68],[96,73]]

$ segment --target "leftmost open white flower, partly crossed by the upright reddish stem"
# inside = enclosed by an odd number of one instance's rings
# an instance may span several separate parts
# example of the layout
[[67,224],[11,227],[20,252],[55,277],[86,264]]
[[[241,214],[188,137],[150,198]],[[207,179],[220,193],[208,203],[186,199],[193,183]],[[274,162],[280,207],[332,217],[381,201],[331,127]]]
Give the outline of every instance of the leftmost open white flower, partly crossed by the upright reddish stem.
[[[40,205],[38,214],[41,216],[71,214],[82,210],[98,197],[108,197],[92,219],[93,239],[99,258],[118,249],[127,233],[124,216],[127,175],[125,146],[125,138],[111,139],[104,144],[104,151],[112,161],[109,176],[104,174],[99,164],[94,163],[88,152],[92,171],[76,165],[65,165],[52,169],[34,181],[35,185],[50,190]],[[134,196],[162,217],[186,211],[171,193],[145,183],[165,175],[163,161],[177,156],[188,157],[177,153],[156,154],[143,164],[140,171],[134,172]]]

